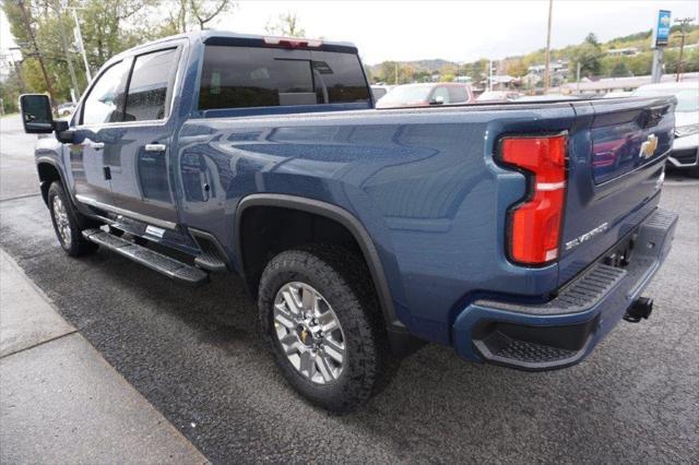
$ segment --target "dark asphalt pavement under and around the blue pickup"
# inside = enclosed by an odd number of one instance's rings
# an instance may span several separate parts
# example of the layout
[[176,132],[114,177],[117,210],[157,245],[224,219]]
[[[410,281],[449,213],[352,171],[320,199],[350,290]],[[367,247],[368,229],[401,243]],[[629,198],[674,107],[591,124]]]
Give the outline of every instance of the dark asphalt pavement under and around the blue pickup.
[[[15,166],[31,160],[31,141],[22,146]],[[0,192],[0,247],[214,463],[699,462],[696,180],[675,176],[665,187],[662,206],[680,222],[645,293],[655,300],[648,322],[623,322],[581,365],[545,373],[469,363],[428,345],[345,416],[287,386],[237,277],[191,289],[108,251],[68,258],[40,196]]]

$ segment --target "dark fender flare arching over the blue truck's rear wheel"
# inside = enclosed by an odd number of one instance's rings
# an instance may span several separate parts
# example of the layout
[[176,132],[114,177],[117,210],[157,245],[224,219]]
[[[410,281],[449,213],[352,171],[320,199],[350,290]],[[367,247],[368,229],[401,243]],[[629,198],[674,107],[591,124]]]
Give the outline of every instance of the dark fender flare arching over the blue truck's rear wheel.
[[244,198],[236,210],[235,224],[235,247],[236,260],[239,264],[238,272],[245,279],[245,263],[242,262],[242,238],[240,235],[242,215],[245,211],[251,206],[276,206],[282,208],[298,210],[301,212],[312,213],[332,219],[350,231],[357,241],[362,254],[367,263],[371,281],[376,288],[379,306],[383,313],[386,326],[389,333],[407,333],[405,325],[398,319],[391,291],[389,289],[381,259],[374,245],[374,240],[367,233],[364,225],[352,213],[332,203],[322,202],[315,199],[308,199],[297,195],[276,194],[276,193],[259,193],[250,194]]

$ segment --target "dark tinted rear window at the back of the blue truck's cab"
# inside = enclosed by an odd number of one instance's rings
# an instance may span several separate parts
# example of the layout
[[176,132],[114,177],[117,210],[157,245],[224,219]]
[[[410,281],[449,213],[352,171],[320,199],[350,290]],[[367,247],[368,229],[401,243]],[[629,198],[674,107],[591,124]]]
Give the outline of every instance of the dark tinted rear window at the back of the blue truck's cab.
[[206,46],[199,109],[367,103],[369,91],[354,53]]

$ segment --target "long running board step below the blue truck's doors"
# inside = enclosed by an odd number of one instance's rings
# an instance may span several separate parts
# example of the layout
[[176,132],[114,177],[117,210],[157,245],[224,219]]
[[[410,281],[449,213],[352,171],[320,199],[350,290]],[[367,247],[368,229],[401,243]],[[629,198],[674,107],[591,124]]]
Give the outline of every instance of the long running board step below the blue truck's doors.
[[85,239],[105,249],[109,249],[127,259],[131,259],[153,271],[164,274],[170,279],[190,286],[199,286],[209,281],[209,274],[196,266],[188,265],[187,263],[130,242],[102,229],[85,229],[83,236]]

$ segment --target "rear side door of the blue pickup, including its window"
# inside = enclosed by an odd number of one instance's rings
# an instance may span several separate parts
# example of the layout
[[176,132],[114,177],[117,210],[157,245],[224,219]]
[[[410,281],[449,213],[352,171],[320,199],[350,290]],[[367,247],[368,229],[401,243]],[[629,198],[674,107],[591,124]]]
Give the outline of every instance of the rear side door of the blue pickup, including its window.
[[169,110],[179,51],[170,47],[134,57],[120,136],[105,146],[115,205],[125,216],[166,229],[177,226]]

